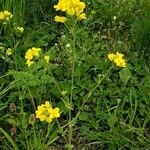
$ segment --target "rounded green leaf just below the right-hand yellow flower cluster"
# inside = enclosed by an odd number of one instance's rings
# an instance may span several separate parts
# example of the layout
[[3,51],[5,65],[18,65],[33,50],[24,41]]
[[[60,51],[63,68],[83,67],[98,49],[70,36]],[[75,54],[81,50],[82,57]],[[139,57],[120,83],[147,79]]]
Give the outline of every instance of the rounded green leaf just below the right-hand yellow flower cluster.
[[123,68],[120,72],[120,80],[124,83],[127,83],[131,77],[131,72],[128,68]]

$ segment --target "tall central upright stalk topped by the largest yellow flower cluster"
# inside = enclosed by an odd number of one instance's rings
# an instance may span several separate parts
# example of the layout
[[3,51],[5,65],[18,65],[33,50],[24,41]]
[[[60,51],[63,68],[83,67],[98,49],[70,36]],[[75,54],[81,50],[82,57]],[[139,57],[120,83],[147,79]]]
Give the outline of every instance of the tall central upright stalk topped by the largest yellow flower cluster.
[[[85,8],[85,3],[80,0],[59,0],[57,5],[54,5],[56,11],[62,11],[66,16],[55,16],[55,21],[60,23],[66,23],[67,29],[72,35],[72,44],[71,44],[71,91],[69,98],[69,121],[68,121],[68,144],[66,145],[68,150],[73,149],[72,145],[72,100],[73,100],[73,90],[74,90],[74,73],[75,73],[75,64],[76,64],[76,27],[77,21],[86,19],[86,15],[83,12]],[[73,18],[74,21],[68,22],[69,18]],[[76,18],[76,19],[75,19]],[[68,22],[68,25],[67,25]],[[72,24],[73,23],[73,24]]]

